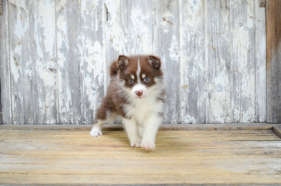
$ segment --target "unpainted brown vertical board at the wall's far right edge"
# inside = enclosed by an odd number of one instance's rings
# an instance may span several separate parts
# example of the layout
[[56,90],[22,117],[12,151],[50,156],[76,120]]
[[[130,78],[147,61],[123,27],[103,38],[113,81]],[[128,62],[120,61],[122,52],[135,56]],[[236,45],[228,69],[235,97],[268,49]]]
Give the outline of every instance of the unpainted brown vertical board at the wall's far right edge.
[[281,122],[281,1],[266,1],[267,122]]

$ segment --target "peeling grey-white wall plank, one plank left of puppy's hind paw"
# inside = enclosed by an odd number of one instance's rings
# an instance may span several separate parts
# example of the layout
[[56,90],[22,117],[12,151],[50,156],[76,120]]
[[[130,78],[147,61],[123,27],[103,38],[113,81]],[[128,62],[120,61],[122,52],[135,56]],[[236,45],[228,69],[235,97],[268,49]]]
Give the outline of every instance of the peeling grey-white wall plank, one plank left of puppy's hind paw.
[[80,5],[56,1],[58,123],[80,124]]

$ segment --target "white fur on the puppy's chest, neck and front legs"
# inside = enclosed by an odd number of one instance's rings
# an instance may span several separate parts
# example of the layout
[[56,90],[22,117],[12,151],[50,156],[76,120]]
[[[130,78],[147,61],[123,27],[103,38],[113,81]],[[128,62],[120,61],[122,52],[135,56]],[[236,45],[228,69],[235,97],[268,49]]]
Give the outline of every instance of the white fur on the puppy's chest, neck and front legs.
[[[135,93],[134,88],[130,91],[130,89],[123,87],[123,95],[125,96],[127,94],[125,97],[127,97],[130,104],[124,104],[122,106],[127,113],[127,117],[131,119],[122,118],[122,120],[128,133],[131,146],[138,146],[136,141],[142,137],[140,144],[142,148],[147,150],[155,148],[155,136],[163,121],[158,113],[163,113],[164,111],[164,103],[156,98],[161,91],[165,89],[165,84],[162,80],[157,79],[156,81],[156,85],[149,87],[146,90],[147,96],[142,99],[134,97],[132,94],[133,92]],[[129,92],[131,92],[131,97],[128,96]]]

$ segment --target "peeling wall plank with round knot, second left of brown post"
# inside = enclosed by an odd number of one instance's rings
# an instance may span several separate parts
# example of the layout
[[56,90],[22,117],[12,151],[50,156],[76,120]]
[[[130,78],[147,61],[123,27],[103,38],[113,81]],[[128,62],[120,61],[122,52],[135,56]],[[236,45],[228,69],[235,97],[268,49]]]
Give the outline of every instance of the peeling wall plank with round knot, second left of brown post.
[[234,123],[257,122],[255,68],[255,2],[231,1]]

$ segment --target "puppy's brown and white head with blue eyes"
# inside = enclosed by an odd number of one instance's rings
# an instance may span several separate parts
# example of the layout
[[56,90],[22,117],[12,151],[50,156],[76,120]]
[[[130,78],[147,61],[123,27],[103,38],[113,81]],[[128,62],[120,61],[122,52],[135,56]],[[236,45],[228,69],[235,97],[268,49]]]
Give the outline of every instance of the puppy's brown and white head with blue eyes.
[[147,97],[162,81],[161,61],[156,56],[120,55],[118,67],[126,91],[134,98]]

